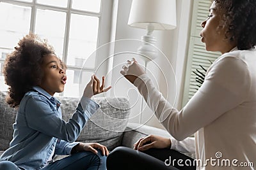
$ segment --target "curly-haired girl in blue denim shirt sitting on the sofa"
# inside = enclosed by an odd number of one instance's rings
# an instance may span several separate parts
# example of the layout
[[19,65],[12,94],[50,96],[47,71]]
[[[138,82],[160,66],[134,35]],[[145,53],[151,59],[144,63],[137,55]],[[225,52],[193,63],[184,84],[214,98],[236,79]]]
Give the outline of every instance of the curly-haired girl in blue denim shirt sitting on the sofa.
[[[66,67],[53,48],[35,34],[22,38],[4,65],[6,101],[16,107],[10,148],[0,157],[0,169],[106,169],[108,149],[99,143],[77,143],[88,118],[99,108],[90,98],[104,89],[96,76],[84,89],[72,118],[61,118],[56,92],[63,92]],[[54,155],[70,155],[56,162]]]

